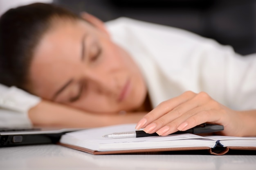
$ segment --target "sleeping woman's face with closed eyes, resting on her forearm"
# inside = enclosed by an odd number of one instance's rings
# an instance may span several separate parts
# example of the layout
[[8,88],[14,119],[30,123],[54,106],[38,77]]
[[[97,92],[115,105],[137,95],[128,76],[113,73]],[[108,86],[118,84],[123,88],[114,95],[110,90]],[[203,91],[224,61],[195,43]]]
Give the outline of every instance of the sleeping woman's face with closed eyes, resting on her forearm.
[[146,97],[129,54],[84,21],[59,21],[40,40],[29,73],[30,91],[95,113],[132,111]]

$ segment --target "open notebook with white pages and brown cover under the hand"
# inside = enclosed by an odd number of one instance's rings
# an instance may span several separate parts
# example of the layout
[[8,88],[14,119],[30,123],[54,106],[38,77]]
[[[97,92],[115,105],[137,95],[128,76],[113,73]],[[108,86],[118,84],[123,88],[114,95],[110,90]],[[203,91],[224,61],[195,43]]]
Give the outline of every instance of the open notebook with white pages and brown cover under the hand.
[[94,155],[172,150],[209,150],[211,154],[223,155],[229,149],[256,150],[256,137],[200,136],[189,133],[121,139],[103,137],[109,133],[123,131],[135,131],[135,124],[66,133],[61,136],[59,144]]

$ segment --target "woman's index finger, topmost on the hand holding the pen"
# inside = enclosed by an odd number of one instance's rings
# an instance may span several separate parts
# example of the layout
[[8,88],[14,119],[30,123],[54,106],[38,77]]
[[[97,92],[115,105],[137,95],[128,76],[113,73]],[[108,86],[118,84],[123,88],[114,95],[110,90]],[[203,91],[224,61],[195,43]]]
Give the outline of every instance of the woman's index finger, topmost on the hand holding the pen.
[[154,120],[157,120],[158,118],[162,117],[169,111],[171,111],[173,108],[177,107],[178,105],[186,102],[187,100],[193,98],[196,94],[193,92],[184,92],[182,95],[177,96],[175,98],[166,100],[162,103],[160,103],[155,109],[150,111],[148,114],[146,114],[136,125],[136,129],[145,128],[148,124],[153,122]]

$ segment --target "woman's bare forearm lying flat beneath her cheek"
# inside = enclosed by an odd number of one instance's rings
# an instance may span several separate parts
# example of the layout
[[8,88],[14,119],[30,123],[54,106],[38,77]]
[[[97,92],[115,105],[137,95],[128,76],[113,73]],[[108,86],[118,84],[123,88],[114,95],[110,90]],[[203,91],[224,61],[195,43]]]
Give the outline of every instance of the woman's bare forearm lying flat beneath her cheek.
[[29,118],[35,126],[62,126],[72,128],[137,123],[145,114],[93,114],[44,100],[29,110]]

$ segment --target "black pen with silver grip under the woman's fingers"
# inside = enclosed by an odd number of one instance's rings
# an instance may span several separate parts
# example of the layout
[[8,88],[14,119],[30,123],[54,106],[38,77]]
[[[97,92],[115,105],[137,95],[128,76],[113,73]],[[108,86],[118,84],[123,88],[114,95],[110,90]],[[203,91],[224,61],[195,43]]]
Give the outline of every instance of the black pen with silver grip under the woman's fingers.
[[[191,129],[188,129],[186,131],[177,131],[175,133],[171,133],[170,135],[180,134],[180,133],[193,133],[193,134],[213,133],[213,132],[218,132],[222,130],[224,130],[224,126],[222,125],[203,123]],[[108,135],[103,135],[103,137],[113,138],[113,139],[130,138],[130,137],[147,137],[147,136],[159,136],[159,135],[157,133],[149,134],[144,131],[117,132],[117,133],[111,133]]]

